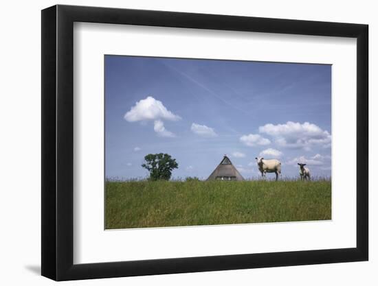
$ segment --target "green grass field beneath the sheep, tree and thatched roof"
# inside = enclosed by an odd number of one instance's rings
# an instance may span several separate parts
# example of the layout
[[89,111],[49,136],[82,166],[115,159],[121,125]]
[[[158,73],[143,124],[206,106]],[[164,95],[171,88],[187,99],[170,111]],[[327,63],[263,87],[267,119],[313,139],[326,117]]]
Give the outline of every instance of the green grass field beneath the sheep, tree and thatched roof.
[[331,219],[331,180],[105,184],[105,228]]

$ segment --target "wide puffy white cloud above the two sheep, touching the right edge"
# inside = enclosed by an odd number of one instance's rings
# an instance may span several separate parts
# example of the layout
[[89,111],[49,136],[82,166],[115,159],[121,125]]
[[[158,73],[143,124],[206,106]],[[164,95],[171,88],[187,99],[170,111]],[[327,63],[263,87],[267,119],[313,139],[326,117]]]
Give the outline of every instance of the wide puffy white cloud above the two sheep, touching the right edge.
[[331,147],[331,134],[313,123],[287,121],[285,124],[266,124],[258,128],[260,133],[273,136],[282,147],[311,150],[311,146]]

